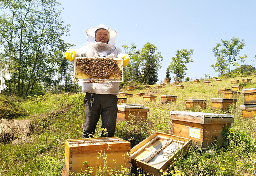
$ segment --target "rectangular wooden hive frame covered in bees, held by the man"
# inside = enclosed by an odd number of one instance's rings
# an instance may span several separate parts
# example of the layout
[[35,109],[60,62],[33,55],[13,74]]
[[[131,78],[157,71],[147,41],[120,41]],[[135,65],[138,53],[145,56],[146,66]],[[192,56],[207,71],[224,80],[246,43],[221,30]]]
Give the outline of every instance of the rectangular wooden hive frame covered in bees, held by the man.
[[76,57],[74,64],[74,82],[124,82],[121,58]]

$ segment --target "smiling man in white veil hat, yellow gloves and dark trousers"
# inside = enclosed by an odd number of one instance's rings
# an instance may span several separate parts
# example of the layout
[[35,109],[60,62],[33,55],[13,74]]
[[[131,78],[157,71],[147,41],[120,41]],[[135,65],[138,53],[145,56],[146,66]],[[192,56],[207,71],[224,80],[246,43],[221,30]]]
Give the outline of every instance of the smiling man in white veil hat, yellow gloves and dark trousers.
[[[120,48],[115,46],[117,33],[104,25],[89,28],[86,31],[87,43],[79,50],[68,50],[65,56],[69,61],[75,57],[88,58],[122,58],[123,67],[129,63],[129,55],[123,54]],[[101,137],[114,136],[116,130],[117,96],[119,94],[118,82],[83,83],[84,97],[84,131],[83,138],[94,137],[96,125],[101,115],[101,129],[107,131],[101,133]]]

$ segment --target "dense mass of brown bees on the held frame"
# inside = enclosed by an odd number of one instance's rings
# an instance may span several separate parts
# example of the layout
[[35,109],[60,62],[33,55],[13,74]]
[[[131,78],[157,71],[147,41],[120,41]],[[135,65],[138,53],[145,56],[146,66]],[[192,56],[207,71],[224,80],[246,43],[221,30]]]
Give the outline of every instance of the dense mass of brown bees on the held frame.
[[76,68],[78,73],[84,73],[90,78],[122,77],[122,71],[113,58],[80,58],[76,61]]

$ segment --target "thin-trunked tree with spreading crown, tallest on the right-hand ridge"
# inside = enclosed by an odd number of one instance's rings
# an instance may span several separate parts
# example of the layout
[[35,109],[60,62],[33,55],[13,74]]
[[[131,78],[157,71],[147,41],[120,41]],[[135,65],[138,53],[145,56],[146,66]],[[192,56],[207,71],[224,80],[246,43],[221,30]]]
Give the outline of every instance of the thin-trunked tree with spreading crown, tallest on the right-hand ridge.
[[[220,49],[220,46],[223,48]],[[239,40],[239,38],[232,37],[231,41],[222,40],[221,43],[217,44],[212,50],[216,54],[222,55],[228,61],[228,72],[230,72],[230,64],[236,61],[236,56],[239,54],[240,50],[245,46],[244,40]],[[219,56],[220,57],[220,56]]]

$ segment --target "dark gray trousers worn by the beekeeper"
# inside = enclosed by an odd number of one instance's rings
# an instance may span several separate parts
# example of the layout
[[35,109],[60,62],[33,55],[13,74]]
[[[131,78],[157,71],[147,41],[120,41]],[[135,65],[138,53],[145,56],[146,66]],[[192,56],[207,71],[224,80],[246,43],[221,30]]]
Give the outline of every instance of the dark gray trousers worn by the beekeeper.
[[[94,99],[91,107],[91,99]],[[84,97],[84,131],[83,138],[94,137],[96,125],[101,115],[101,129],[106,128],[106,137],[114,136],[116,130],[117,96],[110,94],[86,93]],[[101,133],[100,137],[104,137]]]

